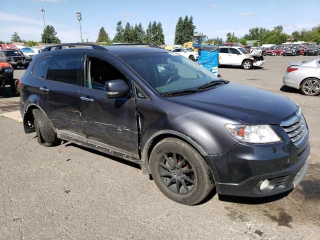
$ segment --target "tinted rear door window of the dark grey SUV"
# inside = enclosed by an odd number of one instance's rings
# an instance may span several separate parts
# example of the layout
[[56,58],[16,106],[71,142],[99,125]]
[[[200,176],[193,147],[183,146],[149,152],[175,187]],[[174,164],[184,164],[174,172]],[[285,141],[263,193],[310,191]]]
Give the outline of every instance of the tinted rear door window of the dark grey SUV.
[[76,85],[79,59],[79,55],[52,56],[46,78]]

